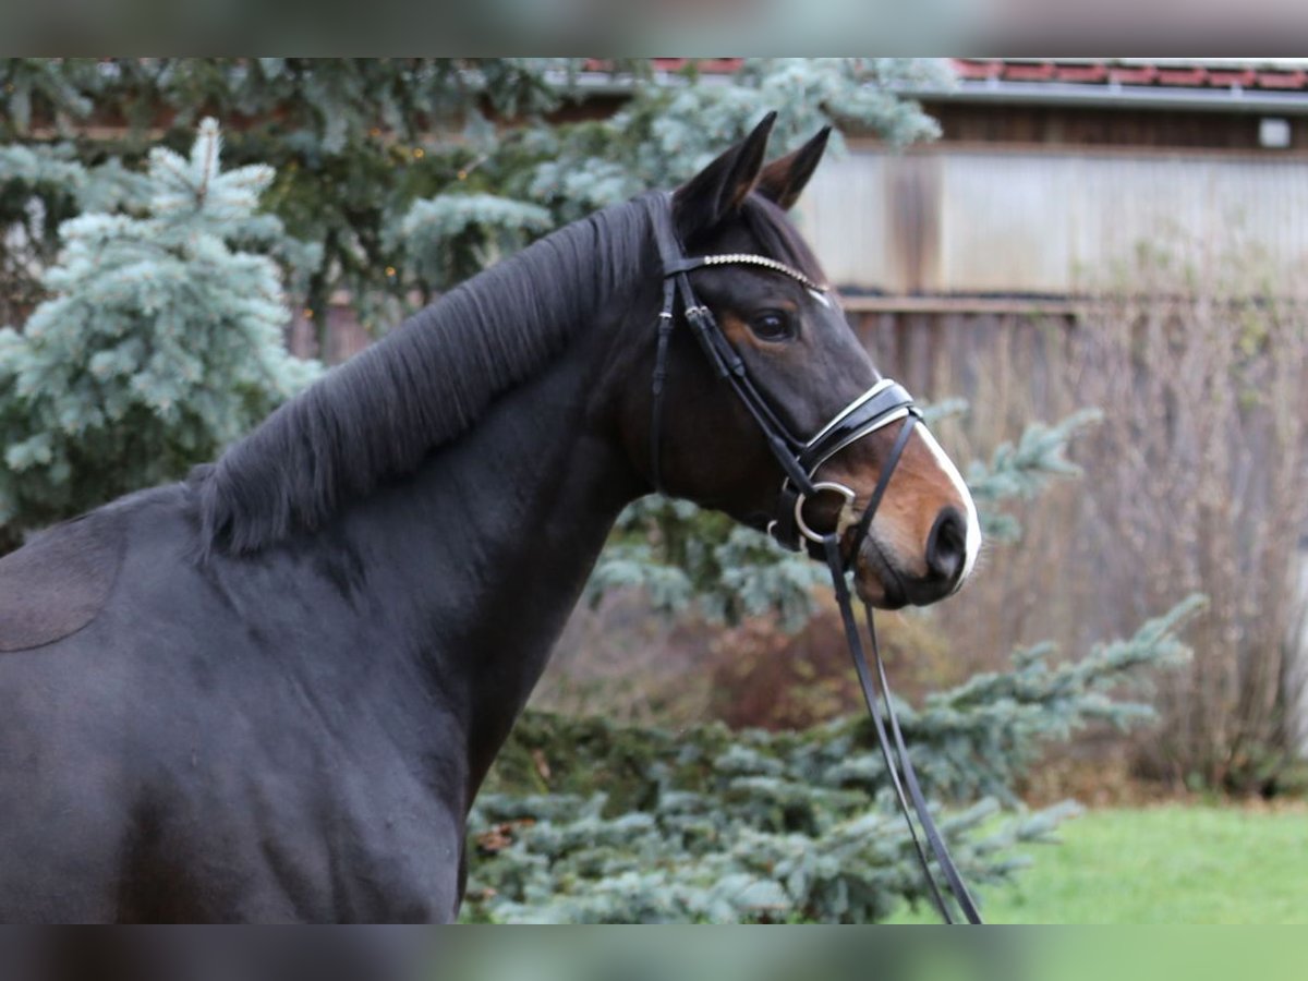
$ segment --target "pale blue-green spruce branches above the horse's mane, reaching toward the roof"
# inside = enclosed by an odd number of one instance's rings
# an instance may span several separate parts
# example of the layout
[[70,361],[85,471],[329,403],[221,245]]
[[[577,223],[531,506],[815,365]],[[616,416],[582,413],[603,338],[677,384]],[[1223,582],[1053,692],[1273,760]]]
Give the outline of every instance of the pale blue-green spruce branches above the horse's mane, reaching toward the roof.
[[933,137],[934,120],[892,93],[925,77],[943,84],[947,71],[920,59],[756,59],[706,82],[693,72],[645,77],[608,119],[536,120],[502,141],[479,127],[471,140],[476,160],[438,196],[412,204],[386,241],[402,280],[424,293],[441,289],[556,224],[675,186],[772,110],[780,112],[778,153],[828,123],[895,144]]

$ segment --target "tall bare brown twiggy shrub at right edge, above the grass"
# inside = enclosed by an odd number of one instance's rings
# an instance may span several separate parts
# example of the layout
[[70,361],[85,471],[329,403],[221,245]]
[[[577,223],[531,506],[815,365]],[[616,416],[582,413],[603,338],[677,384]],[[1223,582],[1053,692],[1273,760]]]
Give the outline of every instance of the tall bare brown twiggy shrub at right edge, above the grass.
[[1284,638],[1304,527],[1305,306],[1247,256],[1144,254],[1078,331],[1078,392],[1104,424],[1084,528],[1103,602],[1146,616],[1210,602],[1194,661],[1163,680],[1164,725],[1137,749],[1150,776],[1271,790],[1286,760]]

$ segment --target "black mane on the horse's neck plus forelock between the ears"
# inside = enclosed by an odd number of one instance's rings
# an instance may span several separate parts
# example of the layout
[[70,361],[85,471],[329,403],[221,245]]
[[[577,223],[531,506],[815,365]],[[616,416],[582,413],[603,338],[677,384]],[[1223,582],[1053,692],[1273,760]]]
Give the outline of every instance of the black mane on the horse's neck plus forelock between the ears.
[[[744,218],[772,258],[820,275],[774,205],[751,196]],[[649,241],[638,201],[607,208],[459,285],[334,369],[204,468],[201,547],[266,548],[416,470],[633,283]]]

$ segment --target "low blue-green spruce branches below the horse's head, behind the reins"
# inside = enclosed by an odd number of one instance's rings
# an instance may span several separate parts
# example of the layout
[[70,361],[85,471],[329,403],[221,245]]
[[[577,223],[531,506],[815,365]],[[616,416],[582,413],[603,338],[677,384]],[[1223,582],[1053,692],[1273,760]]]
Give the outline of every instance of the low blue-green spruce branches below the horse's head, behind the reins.
[[[1048,646],[1010,671],[900,706],[929,795],[973,886],[1022,867],[1070,803],[995,820],[998,800],[1052,740],[1150,708],[1114,697],[1142,670],[1188,657],[1190,599],[1134,637],[1053,664]],[[927,901],[871,725],[807,732],[680,732],[525,717],[472,812],[466,916],[496,922],[874,922]]]

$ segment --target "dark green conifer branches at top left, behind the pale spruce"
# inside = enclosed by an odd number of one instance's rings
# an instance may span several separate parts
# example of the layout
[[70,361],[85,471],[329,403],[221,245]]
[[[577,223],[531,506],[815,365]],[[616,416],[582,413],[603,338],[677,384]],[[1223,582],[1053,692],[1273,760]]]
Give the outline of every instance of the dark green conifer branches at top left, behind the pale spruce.
[[[364,322],[398,320],[411,288],[387,233],[409,205],[449,188],[497,192],[501,133],[487,112],[527,124],[561,105],[576,63],[565,59],[115,58],[0,60],[0,141],[46,141],[93,167],[120,158],[127,171],[156,144],[183,150],[201,111],[226,132],[237,165],[276,174],[264,205],[289,234],[314,246],[288,286],[296,305],[326,310],[348,292]],[[164,126],[162,133],[160,126]],[[76,137],[76,140],[73,140]],[[511,143],[511,141],[510,141]],[[485,164],[480,166],[479,164]],[[467,184],[462,177],[476,171]],[[48,264],[54,229],[77,207],[65,184],[35,188],[35,263],[8,263],[0,238],[0,319],[25,272]],[[0,226],[29,213],[0,187]],[[9,280],[17,281],[9,281]],[[9,319],[13,319],[9,315]],[[319,320],[322,323],[322,320]]]

